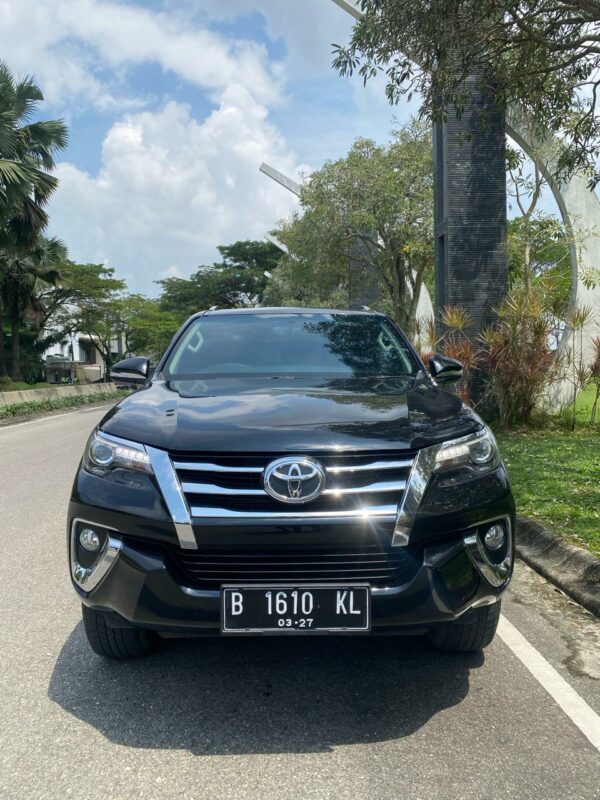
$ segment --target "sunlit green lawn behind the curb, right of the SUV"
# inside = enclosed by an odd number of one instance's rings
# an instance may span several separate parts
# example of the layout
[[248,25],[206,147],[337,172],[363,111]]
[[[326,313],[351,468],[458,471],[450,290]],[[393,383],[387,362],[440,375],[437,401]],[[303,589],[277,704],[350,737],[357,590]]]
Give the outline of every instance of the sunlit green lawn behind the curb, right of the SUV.
[[600,428],[497,434],[517,513],[600,556]]

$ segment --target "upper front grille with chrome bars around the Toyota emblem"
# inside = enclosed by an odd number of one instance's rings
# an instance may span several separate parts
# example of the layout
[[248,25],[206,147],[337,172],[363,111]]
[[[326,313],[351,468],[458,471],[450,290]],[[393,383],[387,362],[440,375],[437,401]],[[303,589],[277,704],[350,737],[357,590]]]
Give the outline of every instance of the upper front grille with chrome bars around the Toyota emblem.
[[[325,467],[323,494],[292,505],[264,490],[265,467],[282,454],[246,456],[172,455],[194,519],[311,519],[394,517],[413,462],[412,454],[317,455]],[[289,453],[285,455],[291,455]]]

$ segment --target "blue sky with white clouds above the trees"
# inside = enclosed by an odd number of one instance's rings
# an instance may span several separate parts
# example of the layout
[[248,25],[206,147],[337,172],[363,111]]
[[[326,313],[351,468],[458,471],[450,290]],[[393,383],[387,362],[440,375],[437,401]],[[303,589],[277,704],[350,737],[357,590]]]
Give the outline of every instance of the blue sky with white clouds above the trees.
[[262,238],[295,206],[263,160],[297,178],[408,117],[331,69],[351,24],[331,0],[1,4],[3,59],[70,126],[50,232],[150,294]]

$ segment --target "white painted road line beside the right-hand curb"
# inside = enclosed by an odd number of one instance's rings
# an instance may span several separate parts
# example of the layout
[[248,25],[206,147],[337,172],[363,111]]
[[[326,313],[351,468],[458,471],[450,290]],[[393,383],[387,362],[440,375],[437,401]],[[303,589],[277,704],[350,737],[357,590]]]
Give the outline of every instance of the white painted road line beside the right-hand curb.
[[502,614],[498,635],[600,752],[600,716]]

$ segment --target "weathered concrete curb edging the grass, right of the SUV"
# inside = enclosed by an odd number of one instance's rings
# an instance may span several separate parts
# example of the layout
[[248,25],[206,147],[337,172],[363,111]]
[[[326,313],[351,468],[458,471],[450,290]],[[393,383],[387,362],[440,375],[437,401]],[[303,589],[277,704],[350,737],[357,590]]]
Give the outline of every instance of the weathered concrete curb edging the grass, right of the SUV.
[[600,558],[521,516],[516,548],[526,564],[600,617]]

